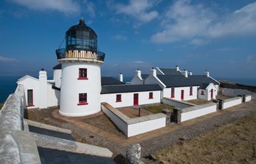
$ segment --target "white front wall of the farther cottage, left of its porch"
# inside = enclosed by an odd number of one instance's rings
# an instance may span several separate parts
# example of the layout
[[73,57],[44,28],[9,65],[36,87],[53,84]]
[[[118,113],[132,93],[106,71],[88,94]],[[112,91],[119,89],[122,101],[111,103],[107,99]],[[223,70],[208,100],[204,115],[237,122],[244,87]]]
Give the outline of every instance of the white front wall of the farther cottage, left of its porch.
[[[184,100],[194,100],[197,99],[197,86],[193,87],[193,95],[189,95],[190,87],[175,87],[175,97],[173,99],[181,101],[181,90],[184,90]],[[171,95],[171,88],[165,88],[163,90],[163,97],[170,98]]]

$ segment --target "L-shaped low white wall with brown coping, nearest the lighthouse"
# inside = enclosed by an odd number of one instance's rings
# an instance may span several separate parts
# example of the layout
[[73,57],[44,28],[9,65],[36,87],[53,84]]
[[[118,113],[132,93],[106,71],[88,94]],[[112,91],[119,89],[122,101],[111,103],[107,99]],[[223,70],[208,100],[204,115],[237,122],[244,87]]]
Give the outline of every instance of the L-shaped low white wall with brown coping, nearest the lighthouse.
[[162,113],[129,118],[107,103],[102,103],[102,112],[104,112],[127,137],[163,128],[166,124],[166,115]]

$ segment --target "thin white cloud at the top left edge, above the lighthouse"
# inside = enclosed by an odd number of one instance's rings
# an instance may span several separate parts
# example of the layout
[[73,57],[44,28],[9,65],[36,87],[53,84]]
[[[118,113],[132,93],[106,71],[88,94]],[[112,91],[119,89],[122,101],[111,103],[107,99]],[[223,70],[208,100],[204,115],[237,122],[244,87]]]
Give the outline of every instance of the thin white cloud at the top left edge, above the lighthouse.
[[73,0],[11,0],[29,9],[44,11],[54,10],[64,12],[66,15],[77,15],[80,13],[78,1]]

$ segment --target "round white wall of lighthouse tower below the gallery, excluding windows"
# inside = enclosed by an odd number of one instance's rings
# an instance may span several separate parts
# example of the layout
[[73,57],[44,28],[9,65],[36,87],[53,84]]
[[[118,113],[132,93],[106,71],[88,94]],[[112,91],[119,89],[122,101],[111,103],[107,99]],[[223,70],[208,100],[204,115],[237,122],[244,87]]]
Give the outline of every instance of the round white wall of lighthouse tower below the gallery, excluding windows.
[[[61,100],[59,113],[77,117],[100,111],[101,75],[97,63],[61,63]],[[87,69],[86,80],[79,80],[79,69]],[[87,105],[78,105],[79,93],[87,93]]]

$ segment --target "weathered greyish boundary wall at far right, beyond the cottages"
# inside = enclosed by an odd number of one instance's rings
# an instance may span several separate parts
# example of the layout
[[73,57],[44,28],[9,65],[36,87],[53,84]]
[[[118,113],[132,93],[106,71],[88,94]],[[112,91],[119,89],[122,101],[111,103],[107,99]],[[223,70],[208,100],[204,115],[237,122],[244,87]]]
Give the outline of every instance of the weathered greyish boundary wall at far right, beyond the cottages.
[[241,90],[241,89],[232,89],[232,88],[222,88],[222,95],[227,95],[230,97],[236,97],[238,95],[252,95],[252,99],[256,98],[256,93],[249,90]]

